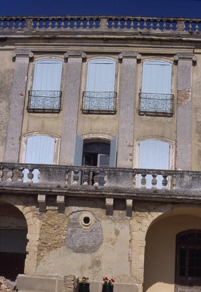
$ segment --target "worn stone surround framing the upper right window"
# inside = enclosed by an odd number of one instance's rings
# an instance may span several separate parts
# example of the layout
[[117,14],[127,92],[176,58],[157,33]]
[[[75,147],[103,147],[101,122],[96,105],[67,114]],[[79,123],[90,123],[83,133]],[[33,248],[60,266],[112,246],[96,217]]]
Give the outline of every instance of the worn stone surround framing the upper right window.
[[[167,114],[167,113],[152,113],[152,112],[140,112],[140,108],[139,108],[139,93],[142,93],[142,81],[143,81],[143,64],[144,62],[147,61],[164,61],[164,62],[168,62],[172,65],[172,70],[171,70],[171,94],[173,94],[173,112],[172,114]],[[176,96],[177,96],[177,70],[175,70],[175,64],[174,64],[174,59],[172,58],[168,58],[165,56],[151,56],[151,57],[142,57],[141,58],[141,66],[139,66],[139,71],[138,71],[138,81],[137,81],[137,106],[136,106],[136,112],[143,116],[143,115],[147,115],[147,116],[168,116],[168,117],[172,117],[175,114],[175,106],[177,104],[176,101]]]

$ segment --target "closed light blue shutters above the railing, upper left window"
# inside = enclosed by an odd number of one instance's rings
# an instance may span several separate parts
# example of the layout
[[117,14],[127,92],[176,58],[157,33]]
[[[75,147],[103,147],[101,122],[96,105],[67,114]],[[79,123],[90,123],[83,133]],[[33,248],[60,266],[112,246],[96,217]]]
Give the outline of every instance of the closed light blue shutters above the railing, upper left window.
[[59,91],[61,84],[62,61],[41,59],[36,61],[34,71],[34,91]]

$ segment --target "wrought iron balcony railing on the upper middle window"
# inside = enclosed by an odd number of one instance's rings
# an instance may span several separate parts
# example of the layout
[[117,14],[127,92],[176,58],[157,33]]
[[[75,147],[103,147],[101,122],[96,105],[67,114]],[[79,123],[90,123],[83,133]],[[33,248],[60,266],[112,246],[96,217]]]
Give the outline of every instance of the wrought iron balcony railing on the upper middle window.
[[117,92],[83,91],[83,112],[116,112]]

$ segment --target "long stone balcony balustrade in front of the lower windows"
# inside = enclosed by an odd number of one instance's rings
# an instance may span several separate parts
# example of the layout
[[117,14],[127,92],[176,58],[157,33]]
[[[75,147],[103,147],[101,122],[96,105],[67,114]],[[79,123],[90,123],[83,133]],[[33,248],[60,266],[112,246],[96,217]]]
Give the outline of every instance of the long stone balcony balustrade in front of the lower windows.
[[[90,178],[92,178],[90,183]],[[201,190],[201,172],[53,164],[0,164],[0,184]]]

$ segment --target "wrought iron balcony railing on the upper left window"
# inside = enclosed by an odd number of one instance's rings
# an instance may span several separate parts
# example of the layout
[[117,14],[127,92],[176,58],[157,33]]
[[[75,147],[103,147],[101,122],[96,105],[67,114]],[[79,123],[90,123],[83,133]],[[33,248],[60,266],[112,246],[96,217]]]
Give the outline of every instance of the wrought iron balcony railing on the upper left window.
[[27,110],[30,112],[59,112],[61,91],[29,91]]

